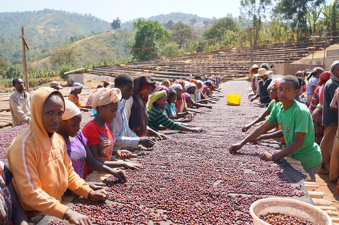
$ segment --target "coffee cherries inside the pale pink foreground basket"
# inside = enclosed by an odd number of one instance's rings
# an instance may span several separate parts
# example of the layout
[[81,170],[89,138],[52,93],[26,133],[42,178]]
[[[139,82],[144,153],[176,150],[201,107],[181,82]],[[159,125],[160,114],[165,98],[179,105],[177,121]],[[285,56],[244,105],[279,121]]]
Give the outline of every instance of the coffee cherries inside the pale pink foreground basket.
[[288,224],[317,225],[318,224],[318,223],[312,223],[309,221],[305,221],[297,217],[288,216],[286,214],[281,214],[278,212],[267,213],[264,216],[260,215],[260,219],[272,225],[288,225]]

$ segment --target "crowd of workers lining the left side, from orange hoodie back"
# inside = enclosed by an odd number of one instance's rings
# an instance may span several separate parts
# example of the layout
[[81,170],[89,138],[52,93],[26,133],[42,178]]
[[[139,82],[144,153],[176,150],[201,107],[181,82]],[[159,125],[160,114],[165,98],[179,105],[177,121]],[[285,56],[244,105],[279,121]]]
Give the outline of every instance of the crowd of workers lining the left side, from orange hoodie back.
[[[104,201],[107,193],[102,183],[85,182],[86,176],[96,170],[127,182],[125,171],[114,168],[142,168],[121,161],[131,158],[131,150],[168,139],[161,133],[165,129],[201,132],[202,127],[190,122],[223,97],[217,89],[217,76],[164,80],[160,85],[149,74],[135,79],[119,74],[114,83],[109,78],[101,82],[84,105],[81,83],[73,84],[66,100],[58,81],[38,88],[31,96],[24,91],[22,79],[13,80],[16,92],[9,100],[13,126],[29,127],[9,146],[8,168],[1,162],[0,184],[8,189],[1,197],[12,199],[0,210],[5,224],[11,220],[28,224],[36,210],[69,223],[90,224],[86,216],[61,204],[62,195],[74,192]],[[89,109],[96,114],[80,130],[81,111]]]

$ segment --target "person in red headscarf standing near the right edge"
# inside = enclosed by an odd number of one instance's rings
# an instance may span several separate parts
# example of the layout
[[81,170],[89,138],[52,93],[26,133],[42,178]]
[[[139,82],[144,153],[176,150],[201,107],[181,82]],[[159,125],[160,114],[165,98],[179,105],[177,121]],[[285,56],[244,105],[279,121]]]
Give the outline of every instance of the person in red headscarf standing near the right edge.
[[[314,125],[314,142],[320,145],[321,140],[324,136],[325,127],[322,125],[322,104],[323,104],[323,97],[324,97],[324,84],[328,81],[331,77],[330,71],[325,71],[320,74],[319,78],[319,90],[318,90],[318,98],[315,101],[316,108],[312,112],[312,120]],[[318,86],[318,87],[319,87]],[[318,89],[318,87],[316,89]],[[311,106],[311,105],[310,105]],[[310,108],[308,108],[310,109]]]

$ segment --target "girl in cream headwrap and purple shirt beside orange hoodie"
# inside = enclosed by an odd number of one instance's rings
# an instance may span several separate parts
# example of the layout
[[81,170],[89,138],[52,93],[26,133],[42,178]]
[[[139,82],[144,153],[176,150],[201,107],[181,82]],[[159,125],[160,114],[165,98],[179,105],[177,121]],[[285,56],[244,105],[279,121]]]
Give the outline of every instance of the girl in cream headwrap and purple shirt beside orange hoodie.
[[[71,101],[65,100],[65,111],[62,122],[57,130],[57,133],[63,137],[66,142],[67,154],[71,158],[74,171],[79,177],[84,177],[84,163],[88,167],[103,173],[112,174],[121,181],[126,179],[126,174],[122,170],[115,170],[112,168],[125,167],[139,169],[141,164],[134,164],[129,162],[105,162],[101,163],[95,160],[91,150],[87,145],[88,140],[80,131],[82,115],[79,108]],[[102,189],[102,184],[97,182],[87,182],[89,187],[93,190]]]

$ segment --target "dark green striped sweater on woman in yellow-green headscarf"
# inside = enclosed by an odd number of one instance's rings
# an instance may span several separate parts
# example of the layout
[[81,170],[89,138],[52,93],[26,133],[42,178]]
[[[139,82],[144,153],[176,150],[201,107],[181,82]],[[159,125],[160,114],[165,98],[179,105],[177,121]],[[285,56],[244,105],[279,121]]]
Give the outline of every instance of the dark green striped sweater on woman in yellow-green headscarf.
[[182,127],[180,123],[176,123],[173,120],[169,119],[166,114],[158,108],[154,108],[152,110],[147,109],[147,114],[147,126],[155,131],[159,130],[160,125],[167,127],[167,129],[170,130],[180,130]]

